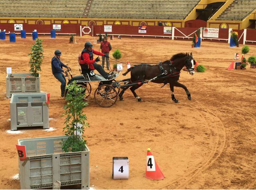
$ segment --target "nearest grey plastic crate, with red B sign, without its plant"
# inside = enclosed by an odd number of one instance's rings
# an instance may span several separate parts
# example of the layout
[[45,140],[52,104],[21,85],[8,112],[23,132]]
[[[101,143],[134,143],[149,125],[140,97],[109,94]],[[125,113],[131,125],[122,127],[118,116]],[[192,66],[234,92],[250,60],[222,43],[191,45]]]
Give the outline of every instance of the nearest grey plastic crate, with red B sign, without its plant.
[[60,142],[67,136],[18,139],[26,146],[27,161],[19,160],[21,189],[52,188],[56,181],[61,186],[80,184],[81,189],[90,188],[90,150],[64,153]]

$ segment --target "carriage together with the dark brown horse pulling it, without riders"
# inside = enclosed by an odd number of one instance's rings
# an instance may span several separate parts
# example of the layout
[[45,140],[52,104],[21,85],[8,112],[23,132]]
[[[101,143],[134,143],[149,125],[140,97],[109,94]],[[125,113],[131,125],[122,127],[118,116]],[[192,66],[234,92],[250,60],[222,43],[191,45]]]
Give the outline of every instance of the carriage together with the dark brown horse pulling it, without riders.
[[[183,88],[188,96],[188,99],[191,100],[191,94],[189,90],[185,85],[179,83],[178,80],[181,70],[187,70],[191,75],[193,75],[194,64],[195,61],[192,57],[192,53],[179,53],[175,54],[170,60],[166,60],[163,63],[159,62],[159,64],[155,65],[135,65],[128,69],[125,73],[123,73],[123,75],[126,75],[128,72],[131,71],[131,78],[119,81],[116,81],[115,79],[119,76],[120,71],[113,73],[110,79],[105,79],[103,76],[95,74],[89,68],[85,70],[83,69],[83,71],[80,69],[81,75],[75,77],[72,77],[71,70],[68,70],[71,78],[69,78],[67,72],[66,76],[68,77],[68,84],[76,81],[77,84],[80,84],[82,87],[84,87],[85,101],[88,101],[90,98],[90,82],[99,82],[99,85],[94,92],[94,99],[96,103],[101,107],[113,106],[117,101],[117,97],[119,97],[119,100],[123,100],[123,93],[130,87],[130,90],[132,91],[134,97],[139,102],[142,101],[142,99],[135,93],[135,90],[142,86],[144,83],[148,82],[163,83],[164,85],[168,83],[172,92],[172,100],[175,103],[178,103],[179,100],[177,100],[174,96],[174,86]],[[183,69],[183,67],[186,67],[186,69]],[[122,89],[122,91],[119,94],[120,89]],[[65,92],[65,95],[66,93],[67,91]]]

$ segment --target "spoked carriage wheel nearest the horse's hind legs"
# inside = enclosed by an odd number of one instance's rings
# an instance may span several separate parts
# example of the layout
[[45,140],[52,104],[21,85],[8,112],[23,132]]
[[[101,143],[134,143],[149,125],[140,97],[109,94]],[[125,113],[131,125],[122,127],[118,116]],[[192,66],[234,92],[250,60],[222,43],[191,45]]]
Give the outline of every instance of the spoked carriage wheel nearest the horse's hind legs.
[[117,100],[117,91],[108,84],[100,85],[94,92],[94,99],[101,107],[113,106]]

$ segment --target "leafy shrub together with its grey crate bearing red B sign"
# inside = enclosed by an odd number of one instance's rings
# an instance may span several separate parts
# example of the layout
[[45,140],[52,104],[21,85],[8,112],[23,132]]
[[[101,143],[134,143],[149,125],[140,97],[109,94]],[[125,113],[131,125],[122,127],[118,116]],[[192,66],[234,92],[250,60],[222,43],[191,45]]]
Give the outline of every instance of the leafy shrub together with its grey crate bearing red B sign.
[[78,134],[88,127],[83,113],[88,103],[83,101],[84,88],[80,85],[74,82],[66,89],[65,136],[18,140],[18,145],[26,146],[27,153],[27,159],[19,161],[21,189],[61,189],[68,185],[90,188],[90,152],[83,140],[84,135]]

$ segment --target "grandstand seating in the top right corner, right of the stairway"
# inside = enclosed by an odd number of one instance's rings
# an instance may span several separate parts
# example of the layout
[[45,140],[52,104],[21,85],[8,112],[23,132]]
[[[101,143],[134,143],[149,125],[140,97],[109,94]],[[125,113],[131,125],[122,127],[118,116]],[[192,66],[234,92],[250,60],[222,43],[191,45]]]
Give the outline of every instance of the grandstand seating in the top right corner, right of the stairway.
[[256,9],[256,0],[234,0],[216,20],[243,20]]

